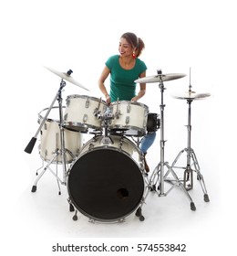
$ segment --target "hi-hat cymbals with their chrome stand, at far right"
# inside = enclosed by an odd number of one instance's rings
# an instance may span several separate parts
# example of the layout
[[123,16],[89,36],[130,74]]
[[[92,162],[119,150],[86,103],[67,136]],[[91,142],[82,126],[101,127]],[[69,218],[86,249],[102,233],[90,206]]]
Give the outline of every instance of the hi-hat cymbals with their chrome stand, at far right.
[[[203,176],[200,172],[200,165],[198,163],[198,159],[195,155],[194,150],[191,148],[191,102],[194,100],[204,99],[205,97],[209,97],[210,93],[196,93],[194,91],[191,91],[191,84],[189,86],[189,92],[185,95],[179,95],[175,98],[181,99],[181,100],[187,100],[187,103],[189,105],[188,108],[188,145],[186,148],[182,149],[180,153],[177,155],[175,160],[172,163],[172,168],[181,168],[184,169],[184,175],[183,175],[183,186],[186,190],[191,190],[193,188],[193,171],[197,174],[197,179],[199,180],[201,184],[201,189],[204,194],[204,201],[209,202],[209,196],[207,194],[207,189],[205,186],[205,182],[203,179]],[[187,165],[185,167],[176,166],[178,160],[180,159],[180,156],[183,153],[187,153]],[[193,166],[193,167],[192,167]]]

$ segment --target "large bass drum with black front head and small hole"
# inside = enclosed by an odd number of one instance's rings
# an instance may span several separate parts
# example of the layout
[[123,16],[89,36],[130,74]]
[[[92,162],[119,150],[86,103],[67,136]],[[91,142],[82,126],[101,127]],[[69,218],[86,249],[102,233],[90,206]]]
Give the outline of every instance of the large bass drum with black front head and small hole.
[[136,144],[96,136],[82,148],[67,178],[69,201],[89,219],[115,222],[129,216],[142,200],[143,158]]

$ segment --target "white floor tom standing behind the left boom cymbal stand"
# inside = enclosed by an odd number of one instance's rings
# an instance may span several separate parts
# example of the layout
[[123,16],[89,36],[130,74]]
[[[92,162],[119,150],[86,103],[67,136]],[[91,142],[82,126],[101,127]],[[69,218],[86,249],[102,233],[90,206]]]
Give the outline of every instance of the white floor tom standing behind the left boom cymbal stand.
[[[39,112],[38,123],[41,123],[46,115],[48,108]],[[59,129],[59,109],[53,107],[49,113],[50,118],[46,118],[46,122],[40,131],[39,154],[41,158],[49,162],[61,150],[60,129]],[[82,134],[64,130],[66,162],[70,163],[79,153],[82,146]],[[52,163],[62,164],[62,155],[59,154]]]

